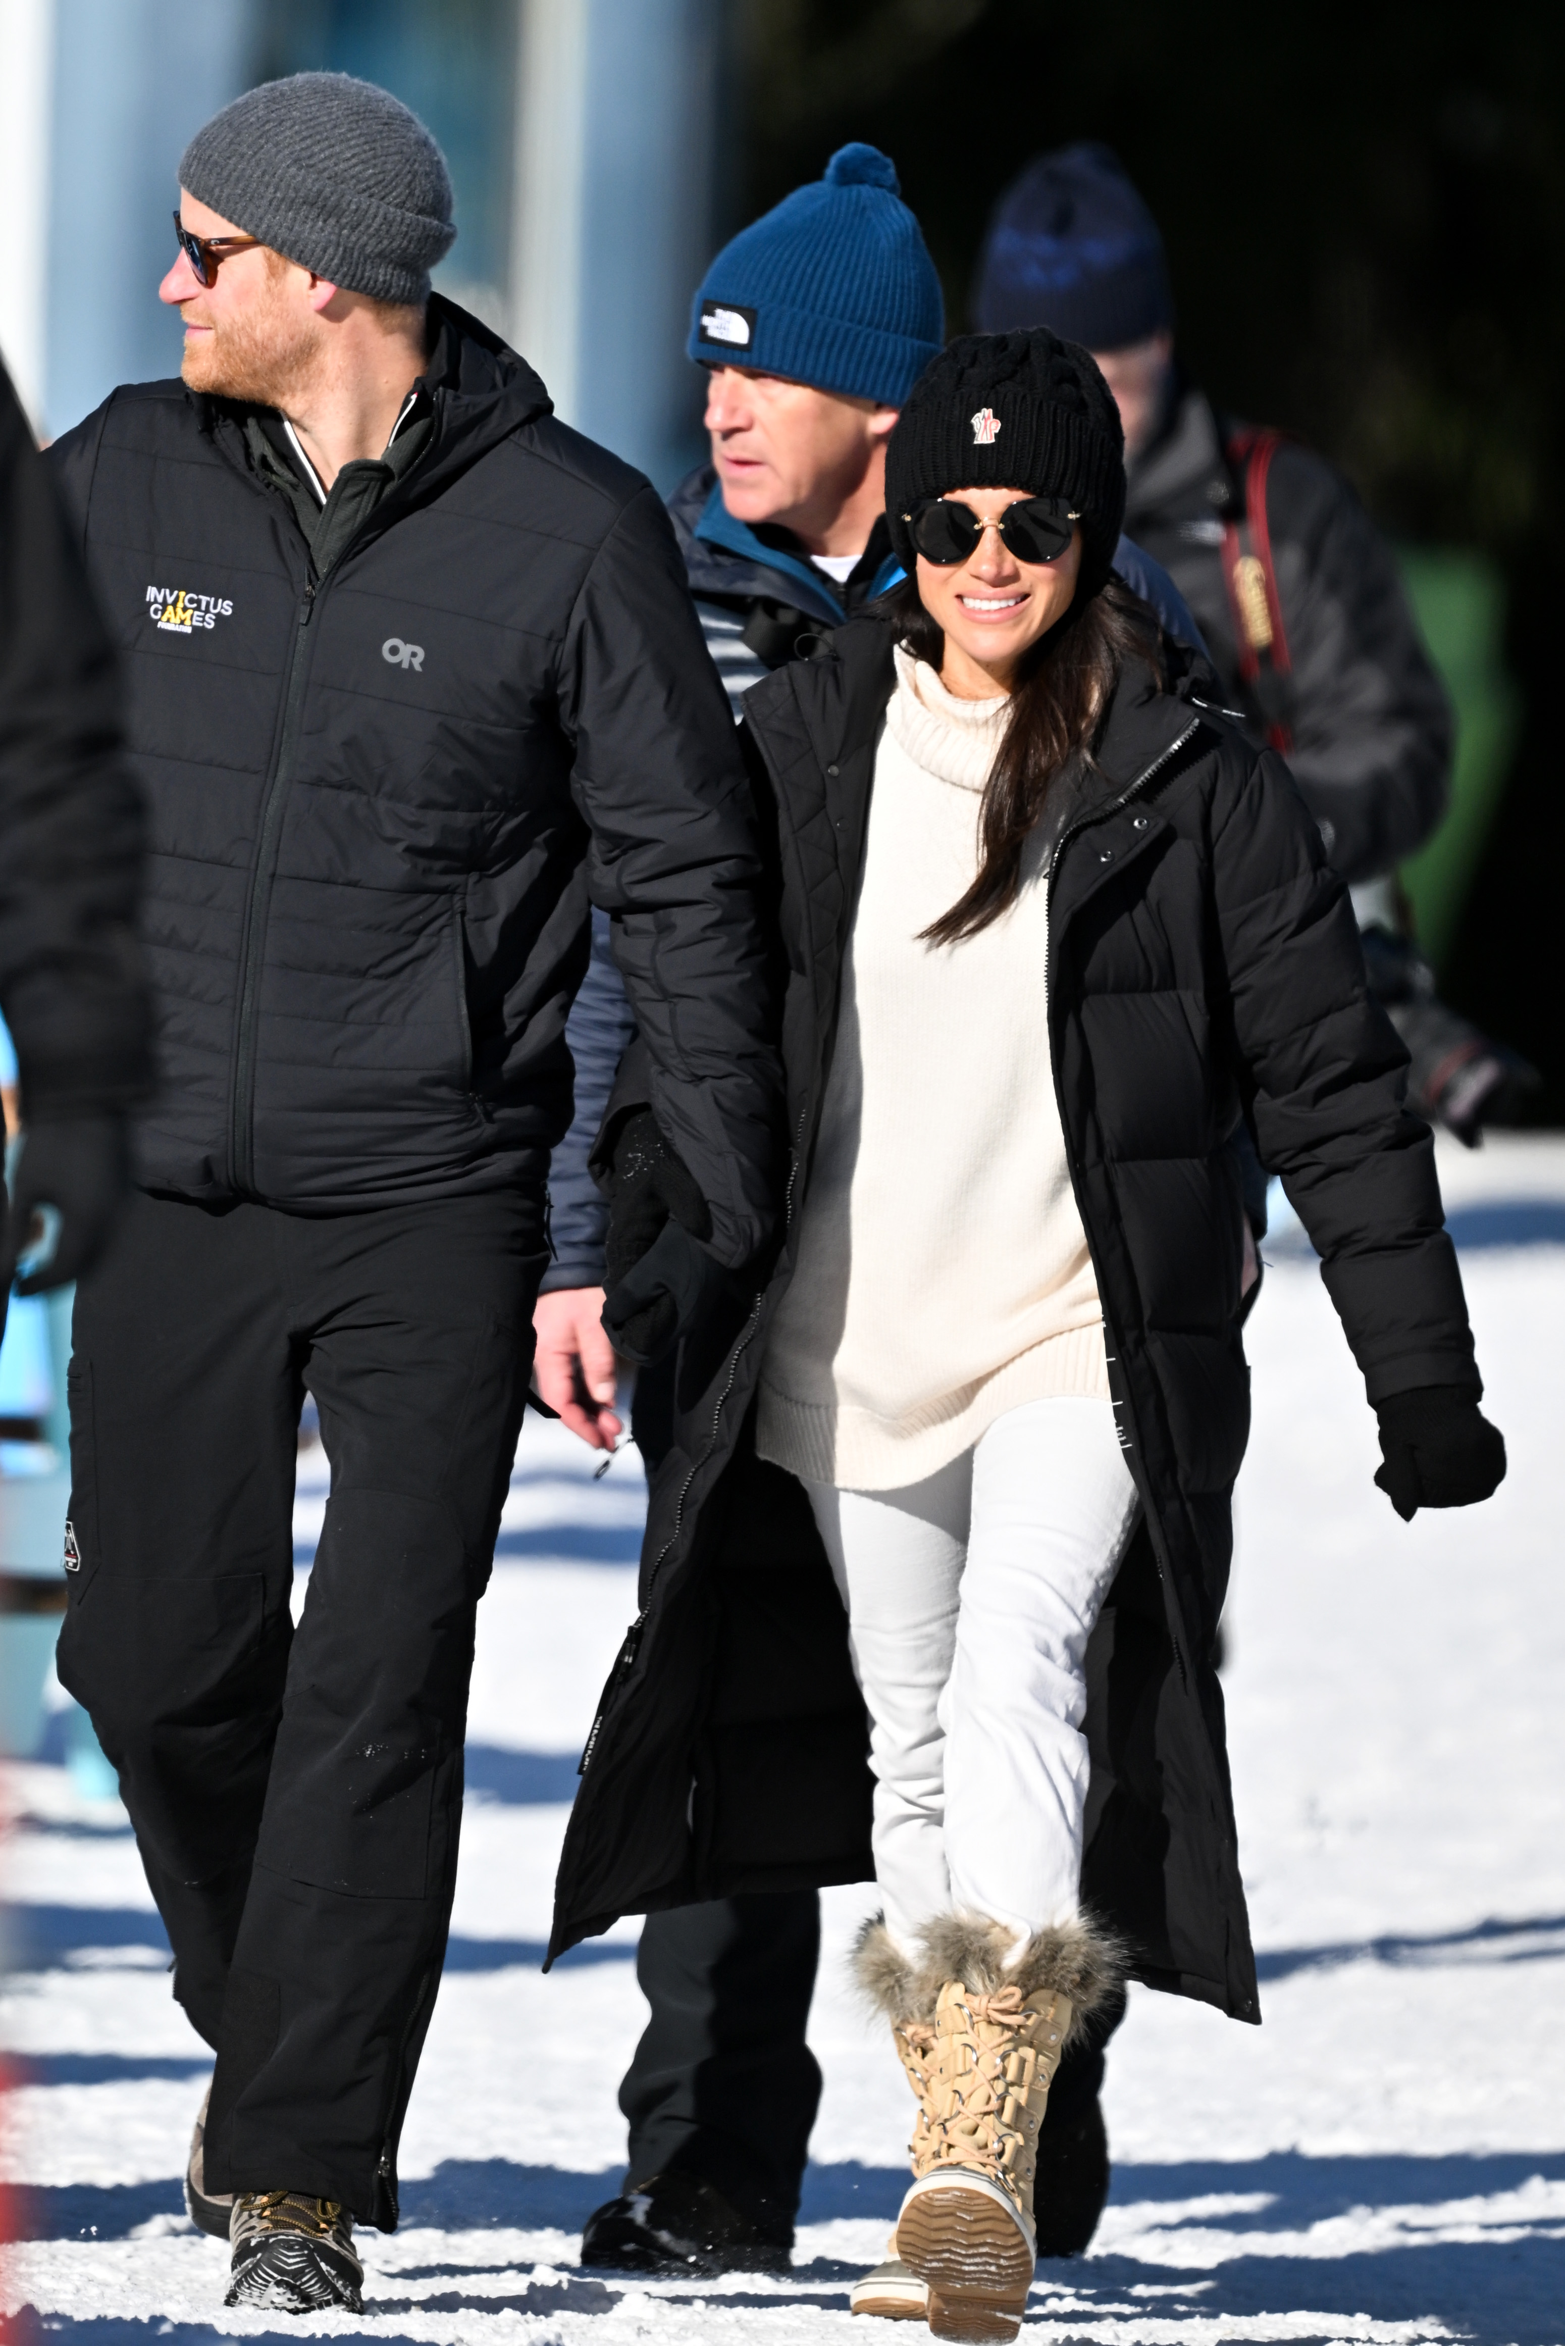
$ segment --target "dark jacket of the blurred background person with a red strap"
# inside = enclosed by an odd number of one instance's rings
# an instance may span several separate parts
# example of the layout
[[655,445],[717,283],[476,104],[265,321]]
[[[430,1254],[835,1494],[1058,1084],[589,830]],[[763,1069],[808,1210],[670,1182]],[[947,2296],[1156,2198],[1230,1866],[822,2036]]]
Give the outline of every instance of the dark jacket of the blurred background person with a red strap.
[[1246,521],[1232,432],[1185,389],[1129,469],[1124,526],[1185,594],[1251,739],[1286,727],[1288,767],[1342,877],[1375,880],[1445,812],[1450,704],[1391,549],[1342,474],[1295,441],[1276,448],[1265,488],[1290,673],[1244,683],[1222,561],[1225,523]]

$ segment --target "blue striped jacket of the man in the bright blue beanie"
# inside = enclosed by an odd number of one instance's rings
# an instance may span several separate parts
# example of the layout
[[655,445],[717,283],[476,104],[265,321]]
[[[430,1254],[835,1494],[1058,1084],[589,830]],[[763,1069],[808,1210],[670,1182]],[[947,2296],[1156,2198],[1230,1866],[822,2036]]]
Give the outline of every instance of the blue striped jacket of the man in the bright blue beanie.
[[[697,617],[734,718],[744,716],[744,692],[786,659],[809,657],[824,631],[901,579],[885,521],[870,533],[863,558],[838,589],[817,570],[786,530],[760,537],[723,504],[716,472],[699,465],[669,500],[669,518],[685,558],[685,577]],[[1168,636],[1201,650],[1180,591],[1159,563],[1147,561],[1129,537],[1115,549],[1124,584],[1152,605]],[[544,1293],[603,1283],[603,1232],[608,1203],[587,1159],[603,1121],[619,1053],[636,1032],[608,941],[608,924],[594,922],[591,964],[570,1009],[568,1042],[575,1063],[575,1114],[549,1161],[554,1262]],[[1265,1227],[1265,1220],[1262,1220]]]

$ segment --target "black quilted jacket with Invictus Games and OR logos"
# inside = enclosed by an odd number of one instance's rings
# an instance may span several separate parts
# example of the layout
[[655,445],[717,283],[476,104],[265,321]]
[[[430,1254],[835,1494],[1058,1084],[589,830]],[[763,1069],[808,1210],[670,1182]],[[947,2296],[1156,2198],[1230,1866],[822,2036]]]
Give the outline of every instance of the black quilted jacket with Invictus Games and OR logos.
[[756,842],[669,521],[493,333],[432,328],[422,446],[345,467],[324,572],[256,411],[153,382],[56,448],[153,807],[141,1180],[504,1187],[570,1121],[591,889],[741,1264],[777,1180]]

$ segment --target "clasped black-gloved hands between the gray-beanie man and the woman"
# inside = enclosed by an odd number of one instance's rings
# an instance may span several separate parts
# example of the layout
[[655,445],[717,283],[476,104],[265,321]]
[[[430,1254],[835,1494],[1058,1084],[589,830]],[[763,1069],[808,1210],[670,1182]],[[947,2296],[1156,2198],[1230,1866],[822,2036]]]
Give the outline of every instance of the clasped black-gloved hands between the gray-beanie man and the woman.
[[650,1368],[723,1286],[699,1243],[711,1234],[711,1213],[650,1107],[626,1117],[610,1178],[603,1325],[617,1354]]

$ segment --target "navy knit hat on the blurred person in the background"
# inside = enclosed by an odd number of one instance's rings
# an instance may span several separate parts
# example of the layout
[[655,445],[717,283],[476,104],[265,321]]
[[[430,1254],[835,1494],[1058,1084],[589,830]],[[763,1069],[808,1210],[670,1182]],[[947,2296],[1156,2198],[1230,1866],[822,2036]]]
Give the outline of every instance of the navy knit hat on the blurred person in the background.
[[974,314],[983,333],[1051,326],[1086,350],[1126,350],[1173,324],[1164,239],[1110,148],[1058,148],[1011,181],[978,260]]

